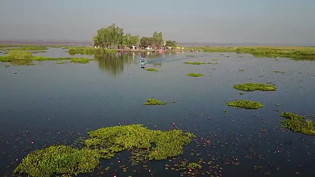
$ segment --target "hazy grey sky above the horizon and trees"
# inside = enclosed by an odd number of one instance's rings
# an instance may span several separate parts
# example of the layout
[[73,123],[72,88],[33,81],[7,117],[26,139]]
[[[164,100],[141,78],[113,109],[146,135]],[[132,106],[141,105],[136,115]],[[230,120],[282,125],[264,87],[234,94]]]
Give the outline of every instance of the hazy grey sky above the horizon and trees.
[[1,0],[0,39],[92,40],[112,23],[178,42],[315,43],[315,0]]

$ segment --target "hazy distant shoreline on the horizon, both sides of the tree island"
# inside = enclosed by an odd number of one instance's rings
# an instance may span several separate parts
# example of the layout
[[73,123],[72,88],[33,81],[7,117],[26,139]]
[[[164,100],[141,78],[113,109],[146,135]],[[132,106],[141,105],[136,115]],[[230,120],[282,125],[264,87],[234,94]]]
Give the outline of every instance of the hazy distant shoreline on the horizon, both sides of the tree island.
[[[75,40],[0,40],[0,44],[34,44],[34,45],[67,45],[67,46],[93,46],[93,41],[75,41]],[[196,43],[185,42],[178,43],[183,47],[241,47],[241,46],[298,46],[298,47],[315,47],[315,44],[264,44],[264,43]]]

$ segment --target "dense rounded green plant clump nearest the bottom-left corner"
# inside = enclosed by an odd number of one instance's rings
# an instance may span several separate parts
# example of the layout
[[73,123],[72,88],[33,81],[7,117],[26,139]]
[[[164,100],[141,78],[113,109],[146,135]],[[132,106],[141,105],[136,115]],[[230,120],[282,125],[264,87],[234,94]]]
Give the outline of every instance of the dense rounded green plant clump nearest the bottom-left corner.
[[15,174],[32,177],[72,176],[90,173],[99,165],[97,149],[71,148],[65,145],[35,150],[23,158]]

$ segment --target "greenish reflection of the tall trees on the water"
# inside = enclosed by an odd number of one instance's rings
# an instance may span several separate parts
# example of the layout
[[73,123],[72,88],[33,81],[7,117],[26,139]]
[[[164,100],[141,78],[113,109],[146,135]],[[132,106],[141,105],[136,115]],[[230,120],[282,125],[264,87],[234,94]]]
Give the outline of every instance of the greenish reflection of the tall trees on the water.
[[117,76],[124,72],[125,64],[130,64],[128,62],[130,57],[132,57],[132,54],[105,53],[103,55],[95,55],[94,58],[101,70]]

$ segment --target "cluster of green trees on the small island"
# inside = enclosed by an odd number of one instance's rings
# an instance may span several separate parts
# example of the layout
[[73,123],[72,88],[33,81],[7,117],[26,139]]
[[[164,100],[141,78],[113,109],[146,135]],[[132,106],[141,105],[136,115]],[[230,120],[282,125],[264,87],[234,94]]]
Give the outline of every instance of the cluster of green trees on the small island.
[[[101,28],[97,30],[97,34],[93,37],[94,45],[100,46],[106,49],[118,49],[118,47],[131,47],[132,45],[139,45],[142,47],[148,47],[155,45],[161,47],[164,45],[162,32],[154,32],[152,37],[142,37],[139,35],[132,36],[129,33],[124,34],[124,29],[110,25],[107,28]],[[175,47],[176,41],[165,41],[169,47]]]

